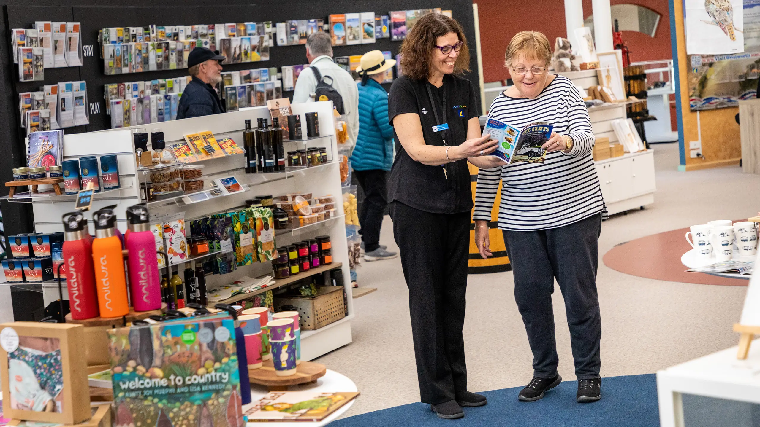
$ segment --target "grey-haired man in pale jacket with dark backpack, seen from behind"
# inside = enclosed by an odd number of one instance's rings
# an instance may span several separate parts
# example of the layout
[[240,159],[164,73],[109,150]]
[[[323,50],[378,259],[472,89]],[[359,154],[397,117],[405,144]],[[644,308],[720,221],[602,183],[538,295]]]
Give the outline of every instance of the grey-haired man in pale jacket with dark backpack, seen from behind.
[[328,33],[313,33],[306,39],[309,68],[304,68],[298,76],[293,102],[331,100],[337,112],[346,115],[348,143],[353,149],[359,134],[359,90],[351,74],[340,68],[332,55]]

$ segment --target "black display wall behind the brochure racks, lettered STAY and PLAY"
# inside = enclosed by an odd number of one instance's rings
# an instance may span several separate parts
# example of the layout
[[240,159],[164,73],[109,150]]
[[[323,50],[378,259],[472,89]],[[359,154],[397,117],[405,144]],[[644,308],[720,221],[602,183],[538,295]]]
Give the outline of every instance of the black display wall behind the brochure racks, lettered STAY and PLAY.
[[[362,1],[325,1],[299,2],[282,0],[258,4],[245,4],[230,0],[199,2],[197,0],[178,1],[164,0],[158,2],[127,0],[121,5],[104,0],[92,0],[86,5],[60,5],[59,2],[5,2],[3,14],[5,19],[0,25],[0,85],[2,96],[0,112],[5,113],[5,124],[0,128],[0,179],[3,182],[12,179],[13,167],[25,166],[24,129],[19,125],[18,93],[39,90],[43,84],[55,84],[59,81],[87,81],[88,109],[90,110],[90,125],[65,128],[66,134],[85,131],[97,131],[110,128],[110,117],[106,115],[106,105],[103,100],[105,84],[125,81],[148,81],[157,78],[179,77],[187,73],[186,69],[147,71],[133,74],[103,75],[103,59],[100,59],[100,45],[97,33],[103,27],[147,27],[149,24],[158,25],[193,25],[193,24],[222,24],[228,22],[272,21],[282,22],[297,19],[324,18],[328,14],[341,14],[363,11],[374,11],[375,14],[388,14],[388,11],[442,8],[451,9],[453,16],[463,26],[470,44],[473,70],[467,77],[473,84],[478,85],[477,59],[475,56],[475,33],[473,23],[472,2],[469,0],[362,0]],[[81,24],[83,46],[92,46],[92,56],[85,56],[81,67],[47,68],[44,81],[21,83],[18,81],[17,65],[13,63],[10,49],[11,28],[31,28],[34,21],[74,21]],[[335,56],[362,55],[369,50],[390,50],[395,56],[401,42],[391,42],[390,39],[378,39],[374,44],[336,46]],[[89,49],[85,49],[87,52]],[[244,64],[224,65],[224,71],[236,71],[249,68],[277,67],[283,65],[305,64],[306,48],[304,46],[275,46],[270,49],[270,60],[261,62],[246,62]],[[386,85],[388,88],[389,85]],[[284,96],[292,96],[292,92]],[[480,96],[480,94],[478,94]],[[96,106],[97,105],[97,106]],[[93,111],[100,112],[93,113]],[[150,126],[150,125],[148,125]],[[160,127],[160,125],[157,125]],[[108,144],[104,139],[104,144]],[[3,194],[7,194],[5,191]],[[5,223],[5,235],[17,232],[31,232],[31,210],[27,204],[2,204]]]

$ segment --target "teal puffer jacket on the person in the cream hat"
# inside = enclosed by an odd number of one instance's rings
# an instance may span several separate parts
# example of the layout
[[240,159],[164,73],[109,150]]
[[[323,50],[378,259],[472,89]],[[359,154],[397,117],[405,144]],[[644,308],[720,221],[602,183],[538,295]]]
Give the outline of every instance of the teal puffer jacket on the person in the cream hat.
[[353,170],[391,170],[393,127],[388,124],[388,92],[369,79],[359,82],[359,136],[351,156]]

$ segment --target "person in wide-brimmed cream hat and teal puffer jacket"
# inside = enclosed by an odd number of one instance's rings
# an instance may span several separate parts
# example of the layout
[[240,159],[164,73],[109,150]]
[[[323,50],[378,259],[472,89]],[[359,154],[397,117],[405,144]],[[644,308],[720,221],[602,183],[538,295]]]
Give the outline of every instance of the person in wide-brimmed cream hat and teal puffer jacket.
[[382,87],[385,71],[396,65],[385,59],[382,52],[366,52],[356,72],[362,76],[359,89],[359,134],[351,156],[351,166],[364,191],[364,203],[359,209],[364,259],[378,261],[395,258],[397,253],[380,245],[380,227],[388,191],[385,182],[393,164],[393,128],[388,122],[388,92]]

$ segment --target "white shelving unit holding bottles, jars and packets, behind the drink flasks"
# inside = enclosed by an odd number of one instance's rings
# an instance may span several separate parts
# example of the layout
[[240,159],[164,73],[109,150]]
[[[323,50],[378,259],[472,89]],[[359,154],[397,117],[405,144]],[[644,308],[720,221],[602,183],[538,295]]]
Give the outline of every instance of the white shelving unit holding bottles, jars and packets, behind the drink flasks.
[[[151,213],[168,214],[185,212],[185,220],[204,217],[211,213],[217,213],[233,207],[242,207],[245,200],[255,198],[256,195],[285,195],[295,191],[311,192],[314,197],[322,195],[334,195],[335,215],[334,219],[309,224],[308,226],[295,227],[287,230],[277,230],[275,239],[277,247],[290,245],[304,239],[313,239],[315,236],[331,236],[332,254],[334,264],[343,264],[343,282],[347,295],[348,316],[340,321],[329,324],[317,331],[304,331],[302,334],[302,359],[310,360],[351,342],[351,324],[353,318],[353,298],[351,297],[350,276],[348,265],[348,248],[346,242],[346,227],[344,223],[344,211],[342,193],[340,188],[340,168],[334,162],[337,157],[337,141],[334,138],[334,117],[331,102],[319,103],[293,103],[293,114],[301,115],[301,123],[306,133],[306,112],[317,112],[320,122],[320,134],[318,138],[309,138],[303,141],[286,141],[286,150],[305,147],[327,147],[328,160],[320,166],[309,168],[289,168],[286,172],[277,173],[245,173],[245,156],[236,155],[220,157],[217,159],[204,160],[196,164],[203,164],[204,175],[208,176],[207,186],[214,178],[234,175],[246,191],[228,196],[217,196],[206,200],[188,203],[185,197],[178,197],[163,201],[153,201],[147,204]],[[160,122],[150,125],[132,126],[131,128],[109,129],[106,131],[89,132],[85,134],[67,134],[64,141],[64,159],[74,159],[82,156],[101,156],[104,154],[117,154],[119,156],[119,176],[122,189],[109,191],[103,195],[95,195],[93,208],[87,213],[88,219],[92,219],[92,212],[102,207],[116,204],[115,212],[119,218],[119,229],[126,230],[125,209],[141,202],[139,195],[138,174],[147,173],[138,169],[132,131],[135,128],[146,128],[150,132],[153,128],[159,128],[164,133],[166,146],[184,139],[185,134],[200,131],[212,131],[216,138],[233,138],[242,146],[242,131],[245,129],[245,119],[250,119],[255,126],[256,119],[270,118],[266,107],[255,107],[245,111],[227,112],[218,115],[207,115],[192,119]],[[43,191],[44,188],[40,188]],[[208,193],[206,188],[203,193]],[[201,192],[199,192],[201,193]],[[194,195],[197,195],[194,193]],[[186,195],[185,195],[186,196]],[[34,225],[36,232],[56,232],[62,230],[61,216],[74,210],[71,196],[55,197],[46,195],[41,200],[33,198]],[[90,232],[94,229],[90,223]],[[189,232],[189,229],[188,229]],[[207,286],[231,283],[240,277],[261,277],[272,274],[271,262],[254,263],[238,267],[230,274],[207,276]],[[303,274],[303,277],[307,277]],[[275,286],[277,286],[275,284]],[[57,298],[57,286],[55,293]]]

